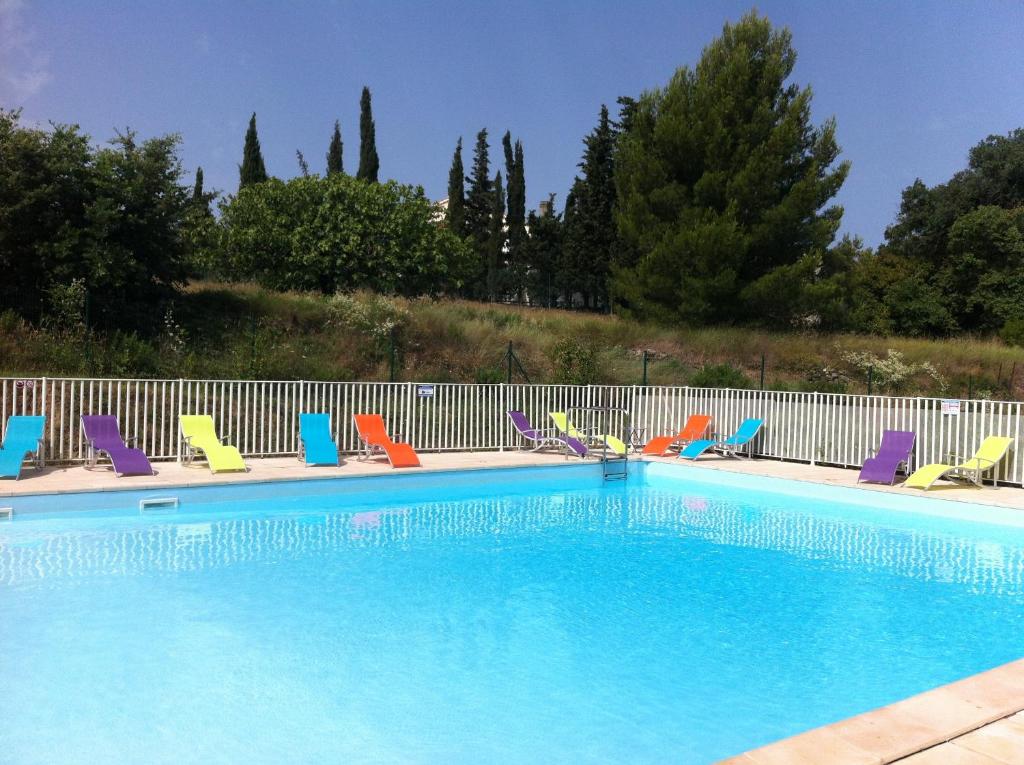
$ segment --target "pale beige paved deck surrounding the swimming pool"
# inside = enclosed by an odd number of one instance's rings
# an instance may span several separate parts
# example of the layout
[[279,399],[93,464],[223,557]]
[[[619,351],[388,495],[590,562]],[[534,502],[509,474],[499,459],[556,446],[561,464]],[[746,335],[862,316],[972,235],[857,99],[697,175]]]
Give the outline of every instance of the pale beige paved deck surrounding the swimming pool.
[[[579,465],[561,455],[526,451],[425,453],[423,471],[473,470],[541,465]],[[1024,510],[1024,490],[939,485],[929,491],[857,483],[857,471],[777,460],[740,461],[708,457],[695,463],[673,458],[680,470],[724,470],[746,475],[809,481],[865,492],[928,496],[953,502]],[[168,488],[240,482],[385,475],[394,472],[387,460],[347,457],[339,467],[305,467],[294,457],[248,460],[245,473],[213,474],[205,464],[155,463],[156,475],[117,478],[109,467],[81,465],[27,468],[17,481],[0,481],[3,497],[69,492]],[[403,471],[404,472],[404,471]],[[727,711],[723,711],[728,714]],[[728,765],[1009,765],[1024,763],[1024,660],[926,691],[888,707],[831,723],[766,747],[737,755]]]

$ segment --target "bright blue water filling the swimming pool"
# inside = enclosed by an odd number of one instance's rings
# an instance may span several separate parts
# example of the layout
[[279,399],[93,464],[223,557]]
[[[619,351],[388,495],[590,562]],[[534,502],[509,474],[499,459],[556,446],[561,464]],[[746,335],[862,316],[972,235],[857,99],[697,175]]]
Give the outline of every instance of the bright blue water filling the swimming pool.
[[706,763],[1024,655],[1013,513],[644,467],[20,500],[0,759]]

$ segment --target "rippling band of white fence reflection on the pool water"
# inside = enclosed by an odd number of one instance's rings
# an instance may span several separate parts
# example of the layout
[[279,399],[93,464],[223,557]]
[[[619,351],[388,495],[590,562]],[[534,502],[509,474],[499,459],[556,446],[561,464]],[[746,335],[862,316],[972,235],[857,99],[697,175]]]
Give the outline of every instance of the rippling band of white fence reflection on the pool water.
[[159,523],[139,519],[111,532],[47,534],[34,532],[31,520],[14,523],[0,532],[0,583],[196,571],[460,538],[595,533],[698,538],[978,592],[1024,589],[1024,550],[1018,546],[650,491],[460,500],[354,514],[205,516],[197,522],[177,517],[180,522],[174,516]]

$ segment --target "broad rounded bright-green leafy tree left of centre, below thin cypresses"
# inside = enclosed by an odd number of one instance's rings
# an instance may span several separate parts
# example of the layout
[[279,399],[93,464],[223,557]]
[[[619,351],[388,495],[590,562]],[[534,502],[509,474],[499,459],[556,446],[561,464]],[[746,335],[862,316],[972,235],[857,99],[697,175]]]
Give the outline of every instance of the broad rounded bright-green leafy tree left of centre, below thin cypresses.
[[420,187],[340,173],[243,189],[221,206],[223,270],[279,290],[456,290],[465,243],[432,223]]

